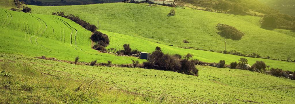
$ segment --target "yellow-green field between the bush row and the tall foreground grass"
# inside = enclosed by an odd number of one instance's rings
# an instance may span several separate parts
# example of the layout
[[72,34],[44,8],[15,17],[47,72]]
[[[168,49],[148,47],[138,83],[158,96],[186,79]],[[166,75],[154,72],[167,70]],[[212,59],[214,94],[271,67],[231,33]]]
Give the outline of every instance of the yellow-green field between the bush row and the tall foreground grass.
[[[0,61],[26,63],[41,73],[97,80],[126,90],[185,103],[294,103],[295,80],[247,70],[197,66],[199,76],[143,68],[73,65],[0,53]],[[111,77],[109,77],[111,76]],[[108,78],[109,77],[109,78]],[[45,90],[46,91],[46,90]]]

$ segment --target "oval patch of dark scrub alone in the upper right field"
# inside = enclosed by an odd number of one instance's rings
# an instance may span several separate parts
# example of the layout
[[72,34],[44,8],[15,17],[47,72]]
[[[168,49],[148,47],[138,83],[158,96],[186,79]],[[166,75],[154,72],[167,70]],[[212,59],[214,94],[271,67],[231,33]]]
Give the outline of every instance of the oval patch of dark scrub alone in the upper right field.
[[242,36],[245,35],[245,33],[237,30],[237,28],[226,24],[217,24],[216,29],[217,33],[226,39],[241,40]]

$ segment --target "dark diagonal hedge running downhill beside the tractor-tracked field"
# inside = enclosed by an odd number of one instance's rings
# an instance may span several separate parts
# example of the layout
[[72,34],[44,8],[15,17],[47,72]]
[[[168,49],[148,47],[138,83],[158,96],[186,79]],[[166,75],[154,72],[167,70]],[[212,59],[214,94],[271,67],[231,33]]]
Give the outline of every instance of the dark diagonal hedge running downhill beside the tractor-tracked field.
[[53,12],[52,15],[62,16],[67,19],[70,19],[77,24],[81,25],[85,29],[93,32],[90,39],[94,42],[93,48],[99,51],[106,51],[106,46],[109,45],[109,37],[106,34],[101,33],[100,31],[96,31],[98,29],[95,25],[90,24],[78,16],[74,16],[73,14],[65,15],[63,12]]

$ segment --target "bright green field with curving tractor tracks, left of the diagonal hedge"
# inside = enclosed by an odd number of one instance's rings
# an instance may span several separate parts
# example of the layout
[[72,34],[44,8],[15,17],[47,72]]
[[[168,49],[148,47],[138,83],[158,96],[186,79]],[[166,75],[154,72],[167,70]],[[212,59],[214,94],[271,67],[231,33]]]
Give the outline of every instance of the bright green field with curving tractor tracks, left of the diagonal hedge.
[[[132,57],[119,57],[91,49],[91,32],[60,16],[28,14],[0,9],[1,53],[55,57],[73,61],[112,61],[131,63]],[[143,60],[140,60],[141,62]]]

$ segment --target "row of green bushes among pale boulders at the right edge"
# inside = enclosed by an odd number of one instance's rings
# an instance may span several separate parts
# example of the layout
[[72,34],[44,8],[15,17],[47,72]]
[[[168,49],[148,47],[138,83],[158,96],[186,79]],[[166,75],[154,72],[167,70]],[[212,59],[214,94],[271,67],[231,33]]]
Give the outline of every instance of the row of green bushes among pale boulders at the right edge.
[[[225,65],[225,61],[224,60],[220,60],[219,63],[216,65],[216,67],[219,68],[224,68]],[[292,77],[289,77],[290,79],[295,80],[295,71],[283,71],[282,69],[279,68],[271,68],[269,69],[271,66],[267,66],[266,63],[264,63],[263,61],[256,61],[251,67],[250,65],[248,65],[248,60],[246,58],[240,58],[239,62],[232,62],[230,63],[230,68],[238,68],[238,69],[246,69],[246,70],[250,70],[250,71],[263,71],[264,73],[267,74],[271,74],[273,76],[283,76],[283,73],[286,72],[287,74],[293,74]],[[266,69],[268,68],[268,70]]]

